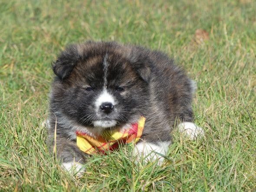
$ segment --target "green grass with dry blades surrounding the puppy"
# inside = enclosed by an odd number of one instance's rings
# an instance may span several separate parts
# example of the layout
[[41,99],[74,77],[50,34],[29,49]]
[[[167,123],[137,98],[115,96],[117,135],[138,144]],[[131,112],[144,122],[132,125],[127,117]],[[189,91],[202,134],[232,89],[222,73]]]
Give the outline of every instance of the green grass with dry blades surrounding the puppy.
[[[0,191],[256,191],[254,0],[0,2]],[[204,29],[209,40],[194,43]],[[196,123],[174,132],[163,166],[131,150],[91,157],[81,178],[62,171],[41,126],[51,62],[70,42],[115,40],[174,57],[197,81]]]

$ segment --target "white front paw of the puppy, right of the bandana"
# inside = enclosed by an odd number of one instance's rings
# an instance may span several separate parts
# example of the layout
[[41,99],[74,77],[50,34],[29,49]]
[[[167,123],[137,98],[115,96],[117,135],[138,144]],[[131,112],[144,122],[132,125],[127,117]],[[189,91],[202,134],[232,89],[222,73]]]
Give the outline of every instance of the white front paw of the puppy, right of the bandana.
[[[168,151],[168,146],[171,142],[158,142],[154,143],[145,143],[141,142],[135,145],[133,149],[133,156],[137,157],[137,160],[143,159],[144,162],[153,162],[158,161],[158,165],[161,165],[164,162],[164,157]],[[156,153],[155,153],[156,152]],[[159,155],[162,154],[163,156]]]

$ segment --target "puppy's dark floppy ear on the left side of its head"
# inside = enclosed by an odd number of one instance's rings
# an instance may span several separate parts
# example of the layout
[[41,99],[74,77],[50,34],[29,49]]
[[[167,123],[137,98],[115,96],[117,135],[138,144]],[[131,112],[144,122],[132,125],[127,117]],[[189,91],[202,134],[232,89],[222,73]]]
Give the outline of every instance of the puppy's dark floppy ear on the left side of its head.
[[53,72],[61,79],[66,79],[71,74],[73,68],[79,62],[80,56],[76,45],[68,46],[62,51],[56,62],[53,62]]

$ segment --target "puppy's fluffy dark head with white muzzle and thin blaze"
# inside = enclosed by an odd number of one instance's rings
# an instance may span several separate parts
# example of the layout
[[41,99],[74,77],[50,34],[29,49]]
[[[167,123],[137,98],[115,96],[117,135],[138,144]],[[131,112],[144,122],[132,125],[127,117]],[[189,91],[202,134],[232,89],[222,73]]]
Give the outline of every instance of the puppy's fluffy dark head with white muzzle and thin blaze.
[[148,104],[150,60],[115,42],[71,45],[53,63],[51,109],[86,127],[133,123]]

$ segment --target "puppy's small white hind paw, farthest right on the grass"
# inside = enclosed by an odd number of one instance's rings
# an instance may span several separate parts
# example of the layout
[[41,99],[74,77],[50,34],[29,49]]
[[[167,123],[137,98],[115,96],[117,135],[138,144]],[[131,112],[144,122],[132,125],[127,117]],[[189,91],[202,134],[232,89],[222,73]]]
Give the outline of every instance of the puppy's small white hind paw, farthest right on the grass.
[[178,128],[179,128],[180,132],[182,132],[182,133],[185,132],[187,134],[187,136],[190,137],[191,140],[194,140],[197,137],[204,135],[203,129],[191,122],[181,123],[181,124],[179,124]]

